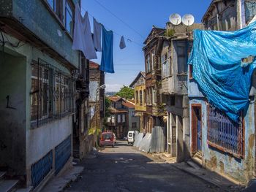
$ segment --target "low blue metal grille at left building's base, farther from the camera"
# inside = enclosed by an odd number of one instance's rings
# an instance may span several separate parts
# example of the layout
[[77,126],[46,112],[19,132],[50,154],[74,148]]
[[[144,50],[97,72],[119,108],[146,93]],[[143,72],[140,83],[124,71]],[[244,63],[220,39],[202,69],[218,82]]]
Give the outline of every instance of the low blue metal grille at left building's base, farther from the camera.
[[71,136],[55,147],[55,174],[58,174],[71,157]]

